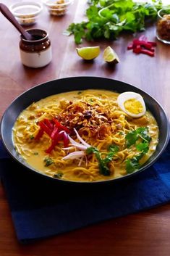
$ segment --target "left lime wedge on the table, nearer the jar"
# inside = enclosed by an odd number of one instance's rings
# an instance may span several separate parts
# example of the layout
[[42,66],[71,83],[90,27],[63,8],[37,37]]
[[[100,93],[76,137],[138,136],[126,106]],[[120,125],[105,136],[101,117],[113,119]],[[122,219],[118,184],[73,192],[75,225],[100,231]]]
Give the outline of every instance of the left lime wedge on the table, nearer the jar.
[[82,57],[82,59],[95,59],[100,54],[100,47],[99,46],[89,46],[89,47],[82,47],[76,48],[77,54]]

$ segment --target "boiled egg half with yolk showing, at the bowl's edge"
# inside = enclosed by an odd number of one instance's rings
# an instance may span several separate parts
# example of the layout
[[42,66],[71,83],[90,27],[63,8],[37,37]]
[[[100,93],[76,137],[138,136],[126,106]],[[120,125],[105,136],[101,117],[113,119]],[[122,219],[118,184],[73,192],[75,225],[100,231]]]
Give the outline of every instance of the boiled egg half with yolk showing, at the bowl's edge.
[[117,97],[119,108],[131,117],[145,115],[146,107],[143,97],[132,91],[126,91]]

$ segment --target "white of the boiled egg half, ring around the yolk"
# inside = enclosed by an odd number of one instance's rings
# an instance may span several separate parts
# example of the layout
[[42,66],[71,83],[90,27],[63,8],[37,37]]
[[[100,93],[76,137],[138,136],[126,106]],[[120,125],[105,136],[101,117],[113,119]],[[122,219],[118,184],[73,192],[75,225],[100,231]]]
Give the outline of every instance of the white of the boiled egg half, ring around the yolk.
[[[143,111],[139,114],[134,114],[126,110],[126,108],[124,107],[124,102],[126,102],[128,99],[136,99],[138,102],[140,102],[143,106]],[[131,117],[142,117],[143,115],[145,115],[146,107],[143,97],[135,92],[126,91],[122,94],[119,94],[119,96],[117,97],[117,104],[122,111],[124,111],[125,113],[127,113],[127,115]]]

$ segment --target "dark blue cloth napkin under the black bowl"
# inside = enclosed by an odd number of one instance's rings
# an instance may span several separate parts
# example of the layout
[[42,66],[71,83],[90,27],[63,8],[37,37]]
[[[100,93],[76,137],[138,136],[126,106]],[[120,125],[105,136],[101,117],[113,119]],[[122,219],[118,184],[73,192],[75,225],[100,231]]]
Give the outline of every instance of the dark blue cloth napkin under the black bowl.
[[161,158],[132,178],[106,185],[64,185],[32,173],[0,144],[1,179],[20,242],[156,207],[170,200],[170,143]]

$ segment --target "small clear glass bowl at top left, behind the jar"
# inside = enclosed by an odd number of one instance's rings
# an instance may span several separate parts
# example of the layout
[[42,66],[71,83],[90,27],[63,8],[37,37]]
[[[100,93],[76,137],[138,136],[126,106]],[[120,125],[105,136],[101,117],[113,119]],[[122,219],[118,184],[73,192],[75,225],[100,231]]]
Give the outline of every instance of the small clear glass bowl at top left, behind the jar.
[[12,4],[9,7],[10,11],[15,17],[35,17],[43,9],[42,4],[35,1],[24,1],[20,3]]

